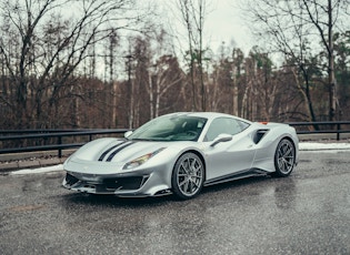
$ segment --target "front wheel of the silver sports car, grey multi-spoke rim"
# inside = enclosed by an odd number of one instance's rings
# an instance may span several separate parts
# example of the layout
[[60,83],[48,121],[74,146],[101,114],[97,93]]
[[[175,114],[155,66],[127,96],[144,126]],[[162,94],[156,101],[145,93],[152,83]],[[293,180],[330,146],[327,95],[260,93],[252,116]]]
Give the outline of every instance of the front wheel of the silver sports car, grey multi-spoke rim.
[[181,200],[197,196],[203,187],[204,165],[194,153],[181,155],[172,171],[171,185],[173,194]]

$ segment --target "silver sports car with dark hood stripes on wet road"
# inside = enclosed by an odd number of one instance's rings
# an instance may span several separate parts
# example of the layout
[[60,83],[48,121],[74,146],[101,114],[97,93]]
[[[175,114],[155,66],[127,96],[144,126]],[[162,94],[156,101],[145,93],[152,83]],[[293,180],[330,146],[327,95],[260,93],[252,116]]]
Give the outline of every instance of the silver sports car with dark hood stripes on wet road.
[[298,136],[287,124],[250,122],[213,112],[156,118],[124,139],[87,143],[63,164],[63,186],[83,193],[179,198],[203,186],[273,174],[298,163]]

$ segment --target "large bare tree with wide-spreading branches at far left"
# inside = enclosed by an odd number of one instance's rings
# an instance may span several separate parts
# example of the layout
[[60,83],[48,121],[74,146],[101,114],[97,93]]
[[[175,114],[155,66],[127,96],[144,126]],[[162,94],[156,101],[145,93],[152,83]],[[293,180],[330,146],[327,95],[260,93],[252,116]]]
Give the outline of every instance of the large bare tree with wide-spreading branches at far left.
[[[132,0],[2,0],[0,6],[2,19],[20,39],[16,53],[11,38],[0,41],[11,89],[16,90],[9,104],[17,113],[18,128],[31,125],[32,119],[37,128],[51,125],[48,120],[58,115],[59,101],[67,96],[63,91],[69,91],[63,88],[74,84],[89,49],[141,18],[131,12]],[[67,6],[73,12],[61,14]]]

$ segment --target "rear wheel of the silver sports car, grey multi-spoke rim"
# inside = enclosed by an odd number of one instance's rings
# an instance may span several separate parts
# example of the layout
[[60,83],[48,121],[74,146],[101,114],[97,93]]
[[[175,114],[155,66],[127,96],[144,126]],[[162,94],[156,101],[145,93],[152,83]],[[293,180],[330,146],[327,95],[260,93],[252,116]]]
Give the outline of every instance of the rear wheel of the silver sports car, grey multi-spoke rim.
[[286,177],[293,171],[296,162],[296,146],[288,140],[282,139],[277,145],[274,153],[274,175]]

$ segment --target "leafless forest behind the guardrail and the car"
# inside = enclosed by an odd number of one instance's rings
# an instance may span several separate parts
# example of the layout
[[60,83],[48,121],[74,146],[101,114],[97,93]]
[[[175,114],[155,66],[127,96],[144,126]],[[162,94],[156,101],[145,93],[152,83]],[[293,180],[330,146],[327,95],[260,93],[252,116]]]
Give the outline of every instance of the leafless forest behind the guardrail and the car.
[[0,129],[134,129],[176,111],[350,120],[349,3],[241,1],[244,53],[210,48],[211,0],[0,0]]

